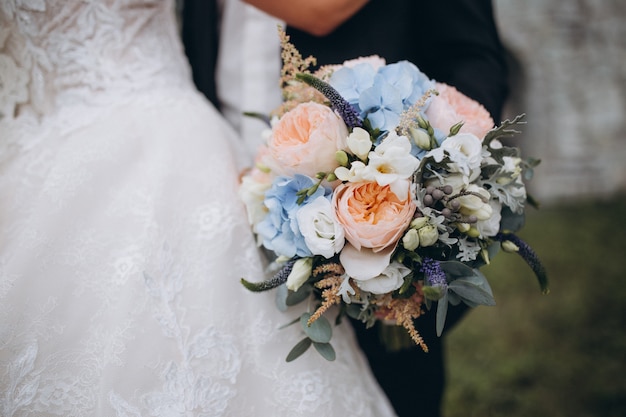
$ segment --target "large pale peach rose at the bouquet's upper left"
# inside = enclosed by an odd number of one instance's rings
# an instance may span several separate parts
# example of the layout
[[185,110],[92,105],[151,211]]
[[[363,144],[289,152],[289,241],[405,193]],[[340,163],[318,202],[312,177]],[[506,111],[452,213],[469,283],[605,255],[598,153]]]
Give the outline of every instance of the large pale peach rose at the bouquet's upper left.
[[278,175],[314,177],[339,166],[338,150],[346,148],[348,128],[333,110],[308,102],[285,113],[268,141],[268,166]]

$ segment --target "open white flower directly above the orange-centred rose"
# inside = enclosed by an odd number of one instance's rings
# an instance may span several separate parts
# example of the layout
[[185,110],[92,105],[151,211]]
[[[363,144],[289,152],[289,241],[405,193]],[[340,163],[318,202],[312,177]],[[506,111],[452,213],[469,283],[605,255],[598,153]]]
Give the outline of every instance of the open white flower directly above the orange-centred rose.
[[419,167],[419,159],[411,155],[411,142],[406,136],[398,136],[395,131],[389,132],[387,137],[372,152],[369,153],[369,170],[366,178],[376,181],[379,185],[389,185],[391,191],[404,201],[406,188],[410,178]]

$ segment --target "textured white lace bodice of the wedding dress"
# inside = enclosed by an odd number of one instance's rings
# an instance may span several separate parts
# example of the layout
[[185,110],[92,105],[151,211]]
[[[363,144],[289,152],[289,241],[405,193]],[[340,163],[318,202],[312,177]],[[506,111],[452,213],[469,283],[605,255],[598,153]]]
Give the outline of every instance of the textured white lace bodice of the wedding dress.
[[0,0],[0,118],[179,86],[171,0]]

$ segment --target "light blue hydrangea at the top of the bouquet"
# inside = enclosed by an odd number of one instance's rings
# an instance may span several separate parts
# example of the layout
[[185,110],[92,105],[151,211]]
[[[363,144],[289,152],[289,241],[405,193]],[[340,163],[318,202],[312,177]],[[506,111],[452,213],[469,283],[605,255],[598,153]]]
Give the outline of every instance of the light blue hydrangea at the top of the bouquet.
[[433,88],[434,82],[414,64],[400,61],[378,71],[367,63],[341,68],[331,76],[330,85],[372,128],[385,132],[396,128],[400,114]]

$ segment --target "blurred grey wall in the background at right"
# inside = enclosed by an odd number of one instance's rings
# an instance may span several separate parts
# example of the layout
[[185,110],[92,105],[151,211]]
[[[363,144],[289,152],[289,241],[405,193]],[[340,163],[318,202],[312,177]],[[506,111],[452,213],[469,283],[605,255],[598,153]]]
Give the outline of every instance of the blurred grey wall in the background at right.
[[542,203],[626,190],[626,1],[494,0]]

